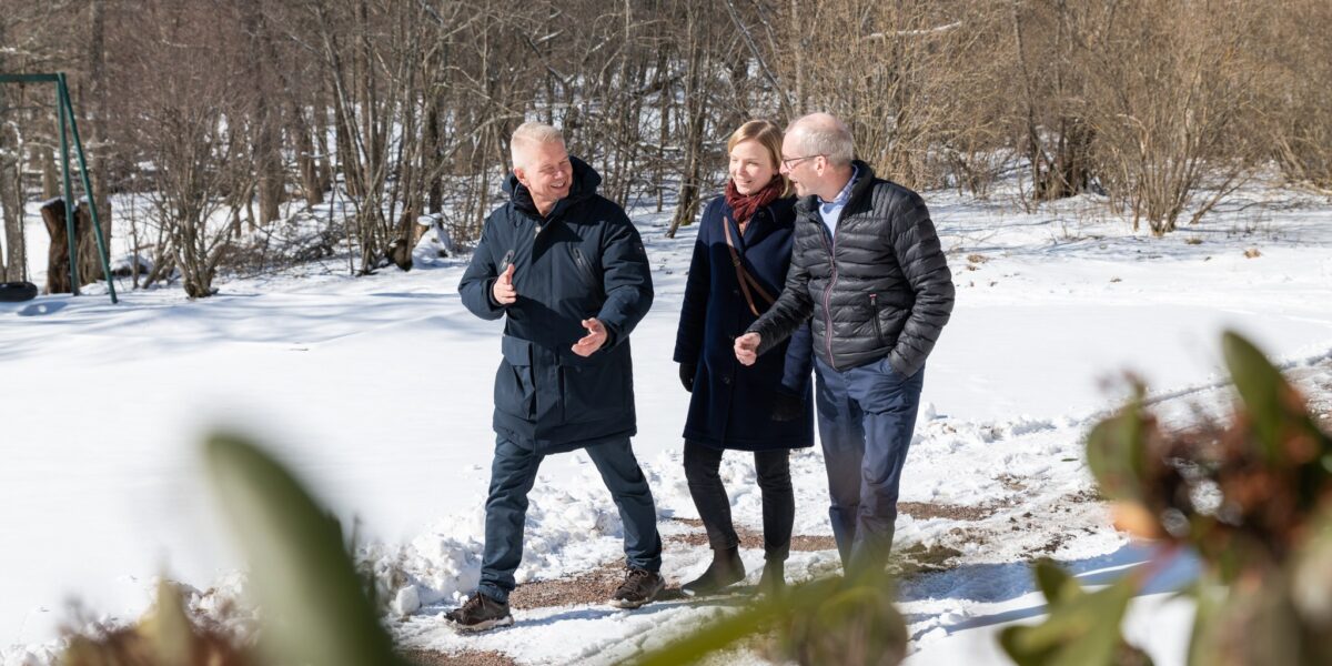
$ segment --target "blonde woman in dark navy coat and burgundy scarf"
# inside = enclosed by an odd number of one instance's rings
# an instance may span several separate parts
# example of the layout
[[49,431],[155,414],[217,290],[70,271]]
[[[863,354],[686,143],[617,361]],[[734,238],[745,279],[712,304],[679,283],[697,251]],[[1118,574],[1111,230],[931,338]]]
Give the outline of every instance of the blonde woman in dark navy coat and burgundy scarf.
[[726,449],[754,452],[763,496],[761,590],[783,585],[795,497],[790,450],[814,444],[810,333],[753,366],[735,360],[735,336],[754,324],[786,282],[794,197],[778,173],[782,131],[746,123],[727,141],[726,194],[703,210],[675,336],[681,382],[693,393],[685,424],[685,476],[713,547],[713,562],[686,594],[709,594],[745,578],[730,500],[718,470]]

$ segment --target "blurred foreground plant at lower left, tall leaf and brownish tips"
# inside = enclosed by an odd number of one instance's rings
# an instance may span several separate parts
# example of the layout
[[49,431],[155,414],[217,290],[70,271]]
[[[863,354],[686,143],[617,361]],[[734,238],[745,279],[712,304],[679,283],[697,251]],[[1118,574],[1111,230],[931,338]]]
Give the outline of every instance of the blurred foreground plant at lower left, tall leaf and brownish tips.
[[68,666],[401,666],[336,518],[253,444],[214,434],[208,474],[246,559],[261,609],[258,649],[190,619],[172,583],[136,626],[76,634]]

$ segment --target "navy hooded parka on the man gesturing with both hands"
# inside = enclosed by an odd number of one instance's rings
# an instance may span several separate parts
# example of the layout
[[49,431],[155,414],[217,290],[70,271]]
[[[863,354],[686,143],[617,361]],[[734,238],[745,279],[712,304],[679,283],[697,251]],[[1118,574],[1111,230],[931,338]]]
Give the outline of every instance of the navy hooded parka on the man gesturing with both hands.
[[[458,293],[484,320],[505,320],[496,373],[494,429],[538,453],[558,453],[637,433],[629,334],[653,302],[647,253],[625,210],[597,193],[601,176],[570,157],[573,184],[545,217],[513,174],[510,201],[486,218]],[[517,302],[492,286],[514,265]],[[583,358],[582,320],[606,326]]]

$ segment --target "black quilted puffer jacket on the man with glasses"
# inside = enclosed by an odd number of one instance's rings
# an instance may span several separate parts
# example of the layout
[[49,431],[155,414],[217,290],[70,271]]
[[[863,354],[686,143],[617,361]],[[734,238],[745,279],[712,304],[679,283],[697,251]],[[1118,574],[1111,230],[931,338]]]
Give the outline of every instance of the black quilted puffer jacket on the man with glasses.
[[851,198],[829,233],[818,197],[795,205],[782,296],[749,328],[759,353],[814,317],[814,353],[838,370],[888,357],[906,377],[924,366],[952,313],[952,273],[919,194],[856,161]]

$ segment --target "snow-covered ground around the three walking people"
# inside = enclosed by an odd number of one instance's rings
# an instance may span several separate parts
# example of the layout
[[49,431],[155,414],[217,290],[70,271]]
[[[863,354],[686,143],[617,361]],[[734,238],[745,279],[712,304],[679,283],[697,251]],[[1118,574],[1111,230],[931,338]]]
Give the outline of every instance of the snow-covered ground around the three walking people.
[[[1134,370],[1181,414],[1191,402],[1221,405],[1219,333],[1235,328],[1332,390],[1332,204],[1255,185],[1200,225],[1151,238],[1086,200],[1026,214],[926,198],[958,301],[924,370],[902,490],[912,510],[896,549],[948,557],[946,570],[912,577],[900,603],[914,663],[1004,663],[995,631],[1042,614],[1027,561],[1055,557],[1096,583],[1147,557],[1090,500],[1082,437],[1122,396],[1104,380]],[[633,217],[658,293],[634,332],[634,448],[667,535],[665,574],[678,582],[707,557],[681,541],[698,530],[674,519],[697,517],[679,453],[687,394],[670,361],[694,229],[669,240],[667,213]],[[40,222],[31,230],[29,252],[43,257]],[[725,609],[566,605],[518,610],[515,627],[489,635],[444,629],[438,613],[478,575],[500,322],[461,306],[466,260],[428,249],[405,274],[229,281],[197,302],[178,288],[123,285],[120,305],[96,288],[0,304],[0,665],[49,654],[71,598],[133,618],[156,575],[237,586],[238,558],[198,470],[214,425],[272,445],[358,521],[373,541],[366,557],[406,574],[394,603],[412,613],[394,630],[408,646],[609,662]],[[737,522],[761,529],[753,465],[731,454],[723,470]],[[829,535],[822,457],[798,453],[793,473],[795,533]],[[621,557],[618,518],[586,456],[547,460],[531,498],[519,581]],[[761,551],[743,557],[761,569]],[[834,562],[830,550],[805,550],[789,573]],[[1158,578],[1127,622],[1158,663],[1183,663],[1191,609],[1164,593],[1189,571],[1183,562]]]

